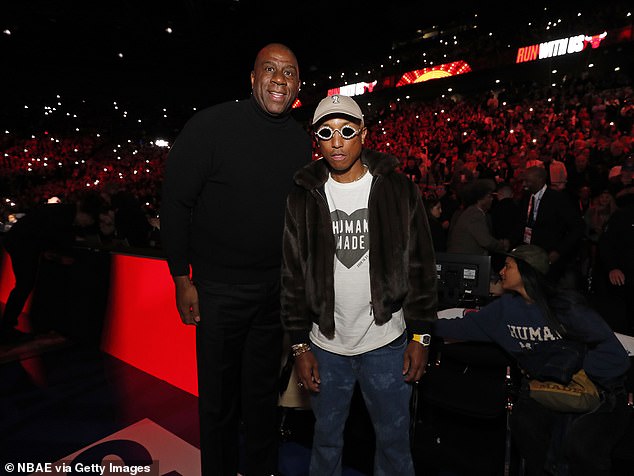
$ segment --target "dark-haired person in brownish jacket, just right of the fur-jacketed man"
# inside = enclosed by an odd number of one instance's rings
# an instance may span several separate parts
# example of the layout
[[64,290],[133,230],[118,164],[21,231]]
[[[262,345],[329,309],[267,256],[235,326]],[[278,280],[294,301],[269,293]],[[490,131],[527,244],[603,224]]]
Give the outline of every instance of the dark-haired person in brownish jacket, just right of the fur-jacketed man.
[[487,216],[494,191],[495,183],[489,179],[477,179],[464,188],[465,208],[452,217],[447,252],[487,255],[509,249],[508,240],[498,240],[493,236]]

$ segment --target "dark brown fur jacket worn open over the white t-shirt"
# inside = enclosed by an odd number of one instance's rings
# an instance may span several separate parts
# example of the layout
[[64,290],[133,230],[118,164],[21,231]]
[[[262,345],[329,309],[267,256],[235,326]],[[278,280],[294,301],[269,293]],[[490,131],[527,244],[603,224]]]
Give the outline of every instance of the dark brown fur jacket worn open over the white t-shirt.
[[[368,204],[370,290],[377,324],[403,308],[408,331],[431,333],[436,320],[436,259],[416,185],[395,171],[396,158],[363,151],[373,175]],[[328,165],[317,160],[295,174],[282,250],[282,322],[291,343],[308,342],[312,323],[334,335],[335,240],[324,193]]]

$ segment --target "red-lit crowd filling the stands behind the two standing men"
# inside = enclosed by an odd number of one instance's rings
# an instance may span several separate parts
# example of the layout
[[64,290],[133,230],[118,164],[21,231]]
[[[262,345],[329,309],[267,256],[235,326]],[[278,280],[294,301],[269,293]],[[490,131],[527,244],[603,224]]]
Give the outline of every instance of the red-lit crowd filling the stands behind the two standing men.
[[[398,157],[402,172],[427,197],[491,178],[509,184],[519,200],[528,166],[562,163],[558,188],[588,212],[588,233],[596,240],[597,220],[605,222],[596,207],[603,200],[614,209],[617,195],[631,181],[633,118],[632,88],[622,77],[609,84],[580,77],[560,87],[518,84],[468,96],[385,102],[367,122],[367,141],[369,148]],[[156,220],[169,150],[165,144],[149,134],[134,139],[94,129],[66,134],[46,131],[22,138],[5,133],[0,161],[5,226],[11,215],[51,197],[63,201],[113,183]]]

